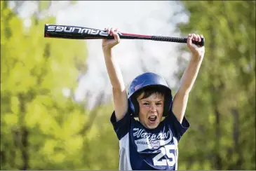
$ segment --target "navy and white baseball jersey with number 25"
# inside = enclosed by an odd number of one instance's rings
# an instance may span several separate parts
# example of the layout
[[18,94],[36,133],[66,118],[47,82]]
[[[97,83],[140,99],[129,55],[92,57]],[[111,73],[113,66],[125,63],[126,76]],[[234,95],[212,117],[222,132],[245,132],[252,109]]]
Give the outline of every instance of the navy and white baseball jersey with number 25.
[[119,139],[119,170],[177,170],[177,143],[189,128],[187,118],[180,124],[170,111],[153,130],[130,114],[116,122],[113,112],[110,121]]

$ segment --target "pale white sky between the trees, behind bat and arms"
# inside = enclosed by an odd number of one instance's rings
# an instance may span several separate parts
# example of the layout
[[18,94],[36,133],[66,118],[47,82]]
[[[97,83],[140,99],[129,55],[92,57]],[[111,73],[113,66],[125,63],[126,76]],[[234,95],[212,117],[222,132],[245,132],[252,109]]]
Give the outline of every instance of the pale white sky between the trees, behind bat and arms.
[[[184,37],[176,30],[175,24],[187,22],[189,17],[185,13],[174,15],[182,11],[182,8],[176,1],[77,1],[72,6],[66,1],[54,1],[43,15],[54,15],[57,25],[95,29],[116,27],[120,32],[126,33]],[[36,10],[36,4],[28,1],[24,8],[20,8],[20,15],[27,18],[33,10]],[[25,20],[25,25],[29,25],[29,20]],[[106,102],[111,100],[112,86],[105,67],[102,40],[86,40],[84,43],[85,48],[88,48],[88,57],[85,57],[88,71],[79,78],[74,99],[81,102],[89,92],[90,108],[94,106],[101,91],[105,92]],[[113,52],[119,62],[126,86],[144,71],[160,74],[166,78],[170,87],[175,86],[178,82],[173,74],[179,67],[178,46],[186,44],[121,39],[119,45],[113,48]],[[146,70],[143,71],[142,66],[146,67]],[[67,88],[63,90],[65,94],[69,94]]]

